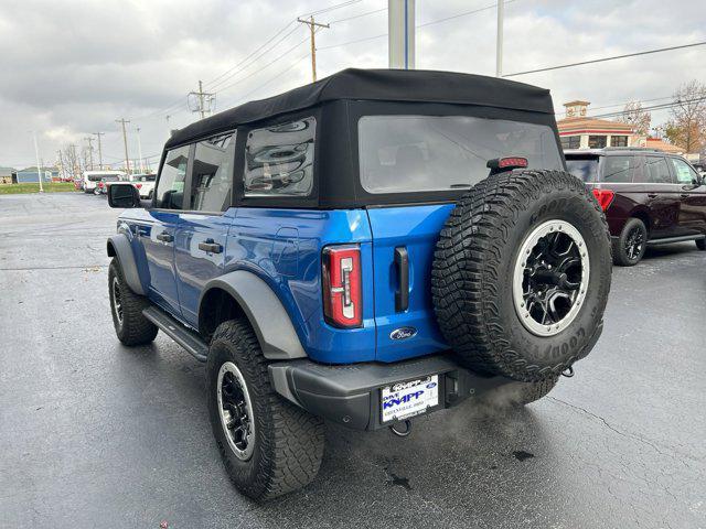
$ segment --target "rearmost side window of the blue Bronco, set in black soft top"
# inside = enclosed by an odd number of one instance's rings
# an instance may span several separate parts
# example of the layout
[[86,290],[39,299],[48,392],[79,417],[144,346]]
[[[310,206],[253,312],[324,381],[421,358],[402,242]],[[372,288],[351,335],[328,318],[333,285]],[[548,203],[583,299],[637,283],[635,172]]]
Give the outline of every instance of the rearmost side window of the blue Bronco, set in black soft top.
[[306,196],[313,187],[317,121],[252,130],[245,147],[245,196]]

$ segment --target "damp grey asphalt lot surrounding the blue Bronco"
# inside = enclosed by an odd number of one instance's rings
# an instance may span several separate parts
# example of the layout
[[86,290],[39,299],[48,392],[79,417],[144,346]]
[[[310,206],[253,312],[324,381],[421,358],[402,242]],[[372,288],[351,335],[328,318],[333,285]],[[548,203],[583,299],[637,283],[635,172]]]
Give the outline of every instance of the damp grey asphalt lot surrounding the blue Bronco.
[[598,347],[546,399],[410,438],[328,429],[320,476],[258,506],[212,440],[203,367],[109,315],[117,213],[0,196],[0,527],[706,527],[706,253],[616,269]]

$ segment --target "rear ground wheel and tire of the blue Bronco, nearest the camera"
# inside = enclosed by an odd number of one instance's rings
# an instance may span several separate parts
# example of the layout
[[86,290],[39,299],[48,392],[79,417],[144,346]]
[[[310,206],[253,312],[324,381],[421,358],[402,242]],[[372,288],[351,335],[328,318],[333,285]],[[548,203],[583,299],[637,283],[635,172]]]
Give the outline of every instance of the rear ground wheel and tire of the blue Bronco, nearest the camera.
[[[323,421],[272,389],[267,360],[248,322],[231,320],[214,332],[206,388],[213,434],[228,477],[240,493],[266,500],[313,481],[323,457]],[[237,435],[226,433],[228,429]]]

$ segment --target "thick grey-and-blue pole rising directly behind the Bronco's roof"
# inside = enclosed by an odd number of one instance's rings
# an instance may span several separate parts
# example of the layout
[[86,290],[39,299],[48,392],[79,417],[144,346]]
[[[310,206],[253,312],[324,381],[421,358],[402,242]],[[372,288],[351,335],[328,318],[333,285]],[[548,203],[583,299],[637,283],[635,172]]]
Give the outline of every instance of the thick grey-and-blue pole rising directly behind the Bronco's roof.
[[387,0],[389,67],[415,69],[415,0]]

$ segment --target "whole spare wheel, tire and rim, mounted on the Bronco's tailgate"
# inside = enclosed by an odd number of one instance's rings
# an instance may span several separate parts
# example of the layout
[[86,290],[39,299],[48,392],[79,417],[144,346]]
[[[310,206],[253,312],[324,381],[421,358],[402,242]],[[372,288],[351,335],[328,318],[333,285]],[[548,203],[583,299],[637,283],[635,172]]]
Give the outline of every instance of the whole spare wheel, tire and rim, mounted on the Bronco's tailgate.
[[471,369],[556,377],[592,348],[611,278],[593,196],[563,171],[488,176],[457,204],[431,271],[441,333]]

